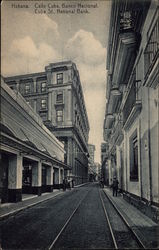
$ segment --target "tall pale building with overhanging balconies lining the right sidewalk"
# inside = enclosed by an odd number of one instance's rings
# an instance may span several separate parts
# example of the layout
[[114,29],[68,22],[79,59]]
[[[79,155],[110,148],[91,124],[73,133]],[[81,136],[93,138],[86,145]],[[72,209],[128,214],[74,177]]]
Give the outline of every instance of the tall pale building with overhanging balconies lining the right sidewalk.
[[[157,1],[113,1],[104,140],[124,197],[145,213],[159,205]],[[151,206],[154,205],[154,206]]]

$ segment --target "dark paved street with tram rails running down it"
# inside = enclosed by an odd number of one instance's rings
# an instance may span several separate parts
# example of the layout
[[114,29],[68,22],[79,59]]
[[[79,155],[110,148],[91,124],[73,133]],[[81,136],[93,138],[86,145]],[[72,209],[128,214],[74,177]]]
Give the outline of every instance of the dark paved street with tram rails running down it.
[[157,247],[152,238],[150,242],[152,234],[157,239],[157,227],[143,228],[147,238],[140,244],[98,183],[67,190],[10,216],[0,222],[0,228],[2,249]]

